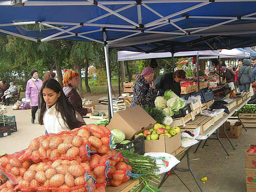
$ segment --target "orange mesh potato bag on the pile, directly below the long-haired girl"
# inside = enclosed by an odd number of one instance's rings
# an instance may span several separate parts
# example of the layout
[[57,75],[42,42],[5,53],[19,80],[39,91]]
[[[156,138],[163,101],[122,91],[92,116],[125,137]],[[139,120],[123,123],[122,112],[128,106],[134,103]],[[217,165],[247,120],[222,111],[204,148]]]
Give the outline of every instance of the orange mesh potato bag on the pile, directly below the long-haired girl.
[[63,131],[58,134],[47,134],[34,138],[23,156],[32,159],[35,163],[42,160],[74,160],[81,156],[88,158],[90,156],[90,144],[88,138],[71,135],[70,131]]

